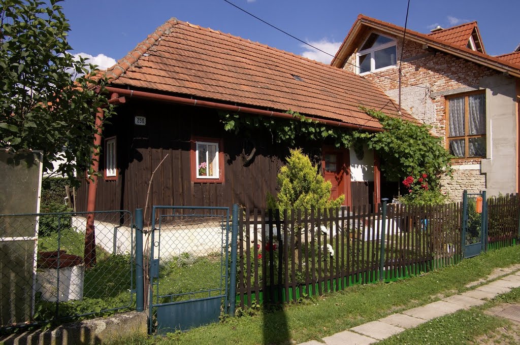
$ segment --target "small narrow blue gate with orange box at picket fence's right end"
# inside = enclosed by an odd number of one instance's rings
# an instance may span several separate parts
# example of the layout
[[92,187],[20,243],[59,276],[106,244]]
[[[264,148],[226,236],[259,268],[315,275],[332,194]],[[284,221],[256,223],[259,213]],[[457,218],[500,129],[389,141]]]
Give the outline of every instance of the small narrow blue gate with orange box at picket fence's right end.
[[[479,205],[480,203],[480,205]],[[479,255],[487,248],[486,191],[462,195],[462,246],[464,258]]]

